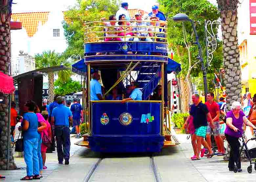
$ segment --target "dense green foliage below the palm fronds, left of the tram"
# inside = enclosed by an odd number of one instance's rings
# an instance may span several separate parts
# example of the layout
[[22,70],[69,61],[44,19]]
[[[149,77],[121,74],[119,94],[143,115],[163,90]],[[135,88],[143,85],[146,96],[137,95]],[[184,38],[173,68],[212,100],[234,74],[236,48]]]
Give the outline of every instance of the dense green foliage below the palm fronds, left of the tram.
[[69,93],[75,93],[82,91],[81,84],[78,81],[74,81],[69,78],[67,81],[63,82],[60,79],[57,79],[54,82],[54,93],[58,95],[66,95]]

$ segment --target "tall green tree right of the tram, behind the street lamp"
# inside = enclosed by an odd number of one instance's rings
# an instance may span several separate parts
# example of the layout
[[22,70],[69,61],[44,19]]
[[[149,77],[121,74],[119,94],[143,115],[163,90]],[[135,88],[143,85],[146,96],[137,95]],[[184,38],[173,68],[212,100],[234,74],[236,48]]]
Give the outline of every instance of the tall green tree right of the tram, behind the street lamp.
[[[203,52],[205,52],[204,20],[218,19],[218,9],[207,0],[159,0],[159,2],[161,5],[160,9],[167,15],[170,49],[173,49],[175,52],[175,60],[181,63],[182,71],[179,77],[181,80],[185,79],[185,83],[181,83],[181,85],[184,85],[184,88],[181,89],[181,94],[184,98],[182,99],[184,101],[183,111],[187,111],[188,103],[185,102],[190,100],[193,93],[191,77],[202,76],[201,63],[197,59],[198,48],[194,44],[195,36],[191,23],[177,23],[172,20],[172,17],[177,13],[185,13],[191,20],[194,20]],[[208,70],[207,74],[213,73],[215,69],[220,68],[222,59],[215,59],[212,61],[212,64],[214,65],[212,66],[214,70]]]

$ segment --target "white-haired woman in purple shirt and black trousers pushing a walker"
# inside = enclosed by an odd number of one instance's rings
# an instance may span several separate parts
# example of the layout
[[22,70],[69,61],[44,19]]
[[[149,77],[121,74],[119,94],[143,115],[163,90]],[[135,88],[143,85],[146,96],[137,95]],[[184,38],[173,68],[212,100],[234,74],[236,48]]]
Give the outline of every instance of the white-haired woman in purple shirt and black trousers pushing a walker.
[[226,115],[227,127],[225,130],[225,136],[226,136],[227,142],[231,147],[229,161],[228,161],[229,171],[234,170],[234,167],[235,167],[234,163],[236,163],[238,172],[242,172],[241,160],[239,157],[240,142],[238,141],[238,139],[242,137],[243,123],[252,127],[253,129],[256,129],[256,127],[246,118],[241,108],[242,108],[242,105],[239,102],[235,101],[232,103],[231,111],[227,112],[227,115]]

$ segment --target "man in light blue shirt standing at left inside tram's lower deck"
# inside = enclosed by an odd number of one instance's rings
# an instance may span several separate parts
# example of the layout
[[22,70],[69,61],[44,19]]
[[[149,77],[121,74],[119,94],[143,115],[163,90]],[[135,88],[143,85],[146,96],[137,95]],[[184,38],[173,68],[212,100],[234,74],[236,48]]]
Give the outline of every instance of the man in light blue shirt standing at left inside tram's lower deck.
[[101,94],[101,85],[99,83],[100,76],[96,72],[92,75],[92,80],[90,82],[90,97],[91,101],[103,100]]

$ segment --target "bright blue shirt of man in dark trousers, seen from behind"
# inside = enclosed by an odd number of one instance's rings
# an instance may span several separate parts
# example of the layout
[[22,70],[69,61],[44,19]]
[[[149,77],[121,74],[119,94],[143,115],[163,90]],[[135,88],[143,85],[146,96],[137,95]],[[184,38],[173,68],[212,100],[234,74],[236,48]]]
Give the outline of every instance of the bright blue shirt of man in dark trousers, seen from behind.
[[65,125],[69,126],[69,117],[72,116],[72,112],[67,106],[63,104],[58,104],[57,107],[53,109],[52,117],[54,117],[55,125]]

